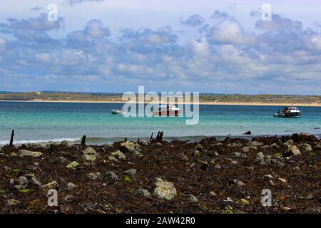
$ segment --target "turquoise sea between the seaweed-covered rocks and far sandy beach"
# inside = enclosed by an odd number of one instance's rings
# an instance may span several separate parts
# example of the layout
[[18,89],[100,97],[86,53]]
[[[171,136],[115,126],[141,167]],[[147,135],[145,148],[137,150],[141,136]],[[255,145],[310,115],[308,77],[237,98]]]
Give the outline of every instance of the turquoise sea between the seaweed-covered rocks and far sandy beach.
[[[22,106],[21,106],[22,105]],[[194,139],[203,136],[321,135],[321,108],[300,107],[301,118],[273,118],[281,107],[200,105],[197,125],[185,125],[184,117],[125,118],[110,110],[113,103],[19,103],[0,102],[0,144],[9,142],[15,130],[15,143],[76,141],[86,135],[88,142],[103,143],[123,138],[149,138],[164,131],[168,139]]]

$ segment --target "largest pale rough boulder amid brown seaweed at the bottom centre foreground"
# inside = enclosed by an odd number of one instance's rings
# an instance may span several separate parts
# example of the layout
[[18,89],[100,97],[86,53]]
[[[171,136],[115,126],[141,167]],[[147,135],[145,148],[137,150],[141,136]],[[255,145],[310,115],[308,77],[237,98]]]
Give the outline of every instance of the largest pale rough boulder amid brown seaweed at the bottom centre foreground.
[[173,182],[164,181],[161,178],[156,178],[154,183],[154,195],[160,199],[173,199],[176,195],[176,189]]

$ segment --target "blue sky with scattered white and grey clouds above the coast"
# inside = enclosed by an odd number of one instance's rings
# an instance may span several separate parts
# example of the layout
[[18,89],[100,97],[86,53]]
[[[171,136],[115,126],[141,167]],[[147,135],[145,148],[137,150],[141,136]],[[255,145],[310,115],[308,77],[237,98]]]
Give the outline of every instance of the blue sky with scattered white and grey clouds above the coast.
[[0,91],[321,95],[320,12],[316,0],[1,0]]

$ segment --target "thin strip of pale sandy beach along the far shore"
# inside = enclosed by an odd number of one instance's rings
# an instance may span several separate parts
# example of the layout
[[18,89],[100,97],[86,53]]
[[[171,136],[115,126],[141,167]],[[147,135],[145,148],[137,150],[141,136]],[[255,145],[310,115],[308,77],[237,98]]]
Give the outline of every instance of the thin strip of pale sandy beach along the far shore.
[[[0,102],[23,102],[23,103],[125,103],[118,100],[0,100]],[[181,104],[181,103],[178,103]],[[185,103],[190,104],[190,103]],[[321,107],[321,103],[252,103],[252,102],[203,102],[200,105],[248,105],[248,106],[307,106]]]

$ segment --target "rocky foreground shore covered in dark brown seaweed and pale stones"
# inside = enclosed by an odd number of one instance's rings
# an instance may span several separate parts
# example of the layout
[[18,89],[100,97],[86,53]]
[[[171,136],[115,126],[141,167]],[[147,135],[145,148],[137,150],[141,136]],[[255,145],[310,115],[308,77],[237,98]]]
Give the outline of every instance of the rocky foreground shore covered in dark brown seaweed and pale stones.
[[306,134],[4,146],[0,212],[320,213],[320,153],[321,140]]

